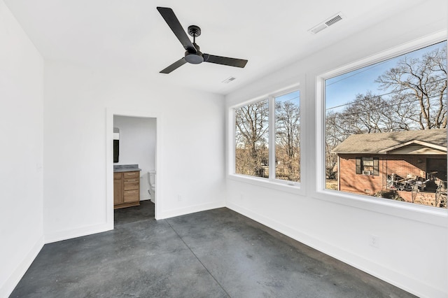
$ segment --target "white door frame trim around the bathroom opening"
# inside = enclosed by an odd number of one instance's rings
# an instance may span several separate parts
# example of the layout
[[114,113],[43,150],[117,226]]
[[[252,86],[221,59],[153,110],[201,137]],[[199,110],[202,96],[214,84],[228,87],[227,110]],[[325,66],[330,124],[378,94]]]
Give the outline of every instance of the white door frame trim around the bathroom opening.
[[[155,219],[162,213],[162,125],[161,118],[154,111],[132,111],[120,108],[106,108],[106,222],[113,229],[113,116],[155,118]],[[151,199],[152,201],[152,199]]]

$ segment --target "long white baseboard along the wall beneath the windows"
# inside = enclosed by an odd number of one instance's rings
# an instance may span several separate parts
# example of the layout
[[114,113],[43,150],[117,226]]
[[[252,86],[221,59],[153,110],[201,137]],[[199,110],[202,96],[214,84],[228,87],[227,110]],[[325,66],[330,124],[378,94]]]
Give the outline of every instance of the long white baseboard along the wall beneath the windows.
[[[367,260],[365,257],[361,255],[357,255],[350,251],[344,250],[337,246],[333,246],[331,243],[322,241],[321,239],[317,239],[314,236],[309,234],[305,234],[303,232],[298,231],[294,227],[290,227],[288,225],[283,225],[281,222],[276,220],[272,220],[271,218],[267,218],[265,215],[261,215],[259,213],[253,212],[239,206],[237,204],[233,204],[231,202],[227,203],[227,208],[240,213],[256,222],[260,222],[262,225],[265,225],[271,229],[280,232],[296,241],[300,241],[305,245],[314,248],[321,253],[325,253],[325,255],[329,255],[330,257],[334,257],[335,259],[349,264],[356,269],[366,272],[372,276],[375,276],[382,281],[386,281],[386,283],[390,283],[391,285],[395,285],[402,290],[405,290],[413,295],[418,297],[447,297],[448,293],[445,290],[434,288],[432,285],[428,285],[423,283],[415,278],[407,276],[401,272],[395,271],[389,267],[378,264],[372,260]],[[390,278],[393,276],[394,278]],[[395,278],[396,277],[396,278]]]

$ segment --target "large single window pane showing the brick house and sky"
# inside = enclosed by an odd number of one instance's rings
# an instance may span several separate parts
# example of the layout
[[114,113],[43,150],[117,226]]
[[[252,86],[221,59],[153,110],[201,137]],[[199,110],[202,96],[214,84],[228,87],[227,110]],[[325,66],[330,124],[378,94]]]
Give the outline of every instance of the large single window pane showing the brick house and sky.
[[326,188],[447,208],[447,42],[325,80]]

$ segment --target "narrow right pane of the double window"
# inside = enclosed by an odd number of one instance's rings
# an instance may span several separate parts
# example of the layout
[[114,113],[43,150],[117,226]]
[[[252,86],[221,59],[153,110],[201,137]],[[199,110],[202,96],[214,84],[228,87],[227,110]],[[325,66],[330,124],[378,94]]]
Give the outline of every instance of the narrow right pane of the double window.
[[300,181],[300,92],[276,97],[275,178]]

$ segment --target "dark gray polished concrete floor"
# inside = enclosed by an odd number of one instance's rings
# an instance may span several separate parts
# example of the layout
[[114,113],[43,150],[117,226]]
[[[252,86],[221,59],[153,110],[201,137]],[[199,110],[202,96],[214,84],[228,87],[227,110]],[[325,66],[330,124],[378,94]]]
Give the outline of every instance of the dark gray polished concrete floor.
[[10,297],[414,297],[228,208],[46,244]]

